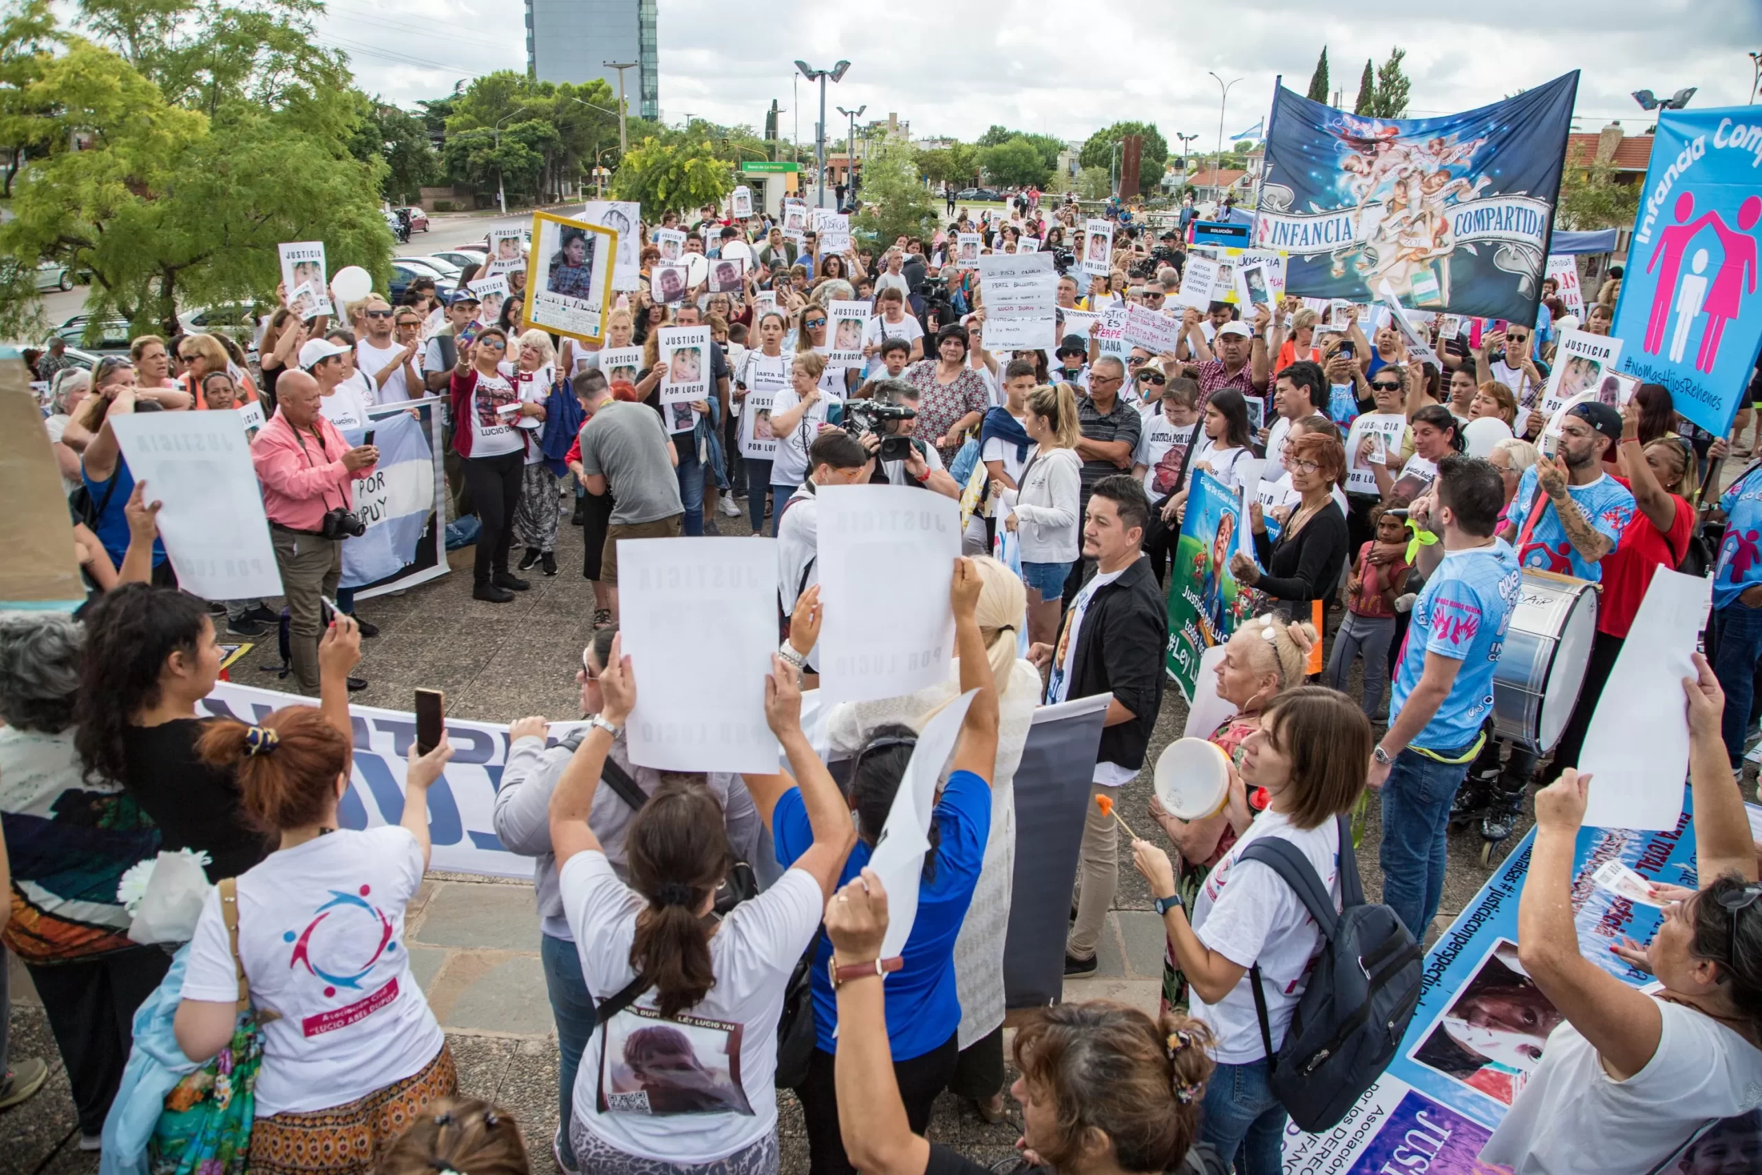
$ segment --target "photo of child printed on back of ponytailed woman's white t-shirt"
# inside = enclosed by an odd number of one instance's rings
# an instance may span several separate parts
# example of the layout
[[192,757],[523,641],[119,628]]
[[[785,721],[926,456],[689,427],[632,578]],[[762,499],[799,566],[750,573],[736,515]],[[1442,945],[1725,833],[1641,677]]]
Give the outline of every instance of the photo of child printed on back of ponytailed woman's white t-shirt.
[[[685,409],[689,414],[691,409]],[[606,1025],[599,1080],[610,1113],[744,1113],[738,1024],[620,1013]]]

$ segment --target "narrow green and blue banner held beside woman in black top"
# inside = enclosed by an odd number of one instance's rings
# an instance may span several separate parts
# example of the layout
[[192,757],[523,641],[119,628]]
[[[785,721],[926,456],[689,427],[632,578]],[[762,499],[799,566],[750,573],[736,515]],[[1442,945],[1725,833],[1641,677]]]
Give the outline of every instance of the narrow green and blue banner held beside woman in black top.
[[1168,573],[1168,676],[1193,701],[1200,655],[1221,645],[1249,615],[1251,592],[1230,574],[1230,555],[1242,543],[1242,502],[1230,486],[1195,470],[1188,514]]

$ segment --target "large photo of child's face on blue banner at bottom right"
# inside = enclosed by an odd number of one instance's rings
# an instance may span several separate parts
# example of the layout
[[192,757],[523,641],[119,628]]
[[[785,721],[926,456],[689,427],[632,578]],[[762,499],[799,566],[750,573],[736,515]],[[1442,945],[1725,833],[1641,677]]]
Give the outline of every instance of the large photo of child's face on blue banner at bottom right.
[[1542,1064],[1542,1046],[1565,1016],[1496,939],[1455,999],[1413,1050],[1413,1060],[1512,1105]]

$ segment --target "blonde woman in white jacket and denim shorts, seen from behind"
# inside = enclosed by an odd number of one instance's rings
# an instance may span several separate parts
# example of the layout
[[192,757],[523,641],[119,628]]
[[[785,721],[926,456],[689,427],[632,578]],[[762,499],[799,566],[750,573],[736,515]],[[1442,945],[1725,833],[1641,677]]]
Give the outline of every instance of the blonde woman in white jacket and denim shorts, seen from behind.
[[1027,585],[1027,639],[1050,645],[1059,629],[1064,580],[1082,553],[1082,458],[1077,442],[1077,396],[1066,382],[1027,393],[1024,428],[1034,449],[1022,467],[1020,491],[1003,520],[1022,543],[1022,581]]

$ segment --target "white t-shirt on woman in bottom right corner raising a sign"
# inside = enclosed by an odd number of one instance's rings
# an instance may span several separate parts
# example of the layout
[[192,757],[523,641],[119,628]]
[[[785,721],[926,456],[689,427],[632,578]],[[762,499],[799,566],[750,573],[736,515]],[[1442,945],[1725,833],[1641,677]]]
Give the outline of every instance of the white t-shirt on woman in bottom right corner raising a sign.
[[[1618,1166],[1655,1171],[1709,1120],[1762,1103],[1762,1050],[1692,1008],[1658,1001],[1658,1052],[1625,1082],[1609,1076],[1579,1029],[1556,1027],[1542,1048],[1542,1064],[1480,1159],[1515,1168],[1517,1175],[1602,1175]],[[1623,1157],[1618,1163],[1612,1156]],[[1692,1168],[1684,1163],[1681,1170]]]

